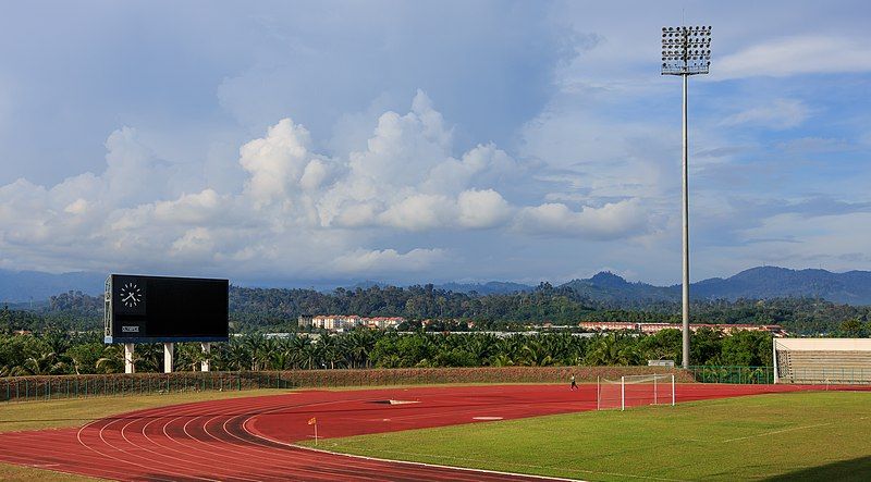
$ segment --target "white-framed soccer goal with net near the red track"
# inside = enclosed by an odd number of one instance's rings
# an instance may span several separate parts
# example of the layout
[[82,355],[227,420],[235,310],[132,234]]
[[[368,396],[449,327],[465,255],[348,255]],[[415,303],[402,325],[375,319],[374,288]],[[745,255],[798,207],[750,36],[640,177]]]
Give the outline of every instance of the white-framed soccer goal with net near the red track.
[[618,380],[599,378],[596,384],[598,410],[674,405],[674,375],[627,375]]

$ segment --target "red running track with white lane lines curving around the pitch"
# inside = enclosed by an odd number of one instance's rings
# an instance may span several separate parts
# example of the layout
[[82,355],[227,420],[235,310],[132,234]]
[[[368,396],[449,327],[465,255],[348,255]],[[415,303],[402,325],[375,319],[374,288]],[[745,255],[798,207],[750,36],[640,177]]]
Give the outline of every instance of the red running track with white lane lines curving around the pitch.
[[[678,401],[687,401],[808,388],[686,384],[676,391]],[[311,437],[311,417],[318,435],[329,438],[593,409],[594,385],[576,392],[563,385],[302,391],[134,411],[81,429],[2,433],[0,461],[131,481],[540,481],[292,443]]]

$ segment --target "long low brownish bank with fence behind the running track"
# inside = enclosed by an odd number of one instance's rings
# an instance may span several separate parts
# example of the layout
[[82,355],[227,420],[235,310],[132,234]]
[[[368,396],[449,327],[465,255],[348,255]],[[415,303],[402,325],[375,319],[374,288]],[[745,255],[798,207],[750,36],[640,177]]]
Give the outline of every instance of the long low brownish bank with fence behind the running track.
[[330,388],[342,386],[426,385],[446,383],[568,383],[597,378],[674,373],[692,382],[683,370],[661,367],[482,367],[355,370],[287,370],[174,372],[13,376],[0,379],[0,401],[52,400],[91,396],[132,396],[256,388]]

